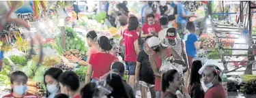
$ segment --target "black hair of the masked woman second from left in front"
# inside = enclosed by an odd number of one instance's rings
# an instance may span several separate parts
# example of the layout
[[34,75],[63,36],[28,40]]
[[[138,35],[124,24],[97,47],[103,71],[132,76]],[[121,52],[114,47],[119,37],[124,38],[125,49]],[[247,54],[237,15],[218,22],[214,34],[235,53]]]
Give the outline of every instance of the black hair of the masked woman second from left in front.
[[45,71],[44,73],[44,85],[46,86],[46,82],[45,82],[45,76],[51,76],[53,79],[55,79],[56,81],[58,81],[59,76],[61,75],[61,73],[63,73],[63,71],[57,67],[51,67],[50,69],[48,69],[47,71]]

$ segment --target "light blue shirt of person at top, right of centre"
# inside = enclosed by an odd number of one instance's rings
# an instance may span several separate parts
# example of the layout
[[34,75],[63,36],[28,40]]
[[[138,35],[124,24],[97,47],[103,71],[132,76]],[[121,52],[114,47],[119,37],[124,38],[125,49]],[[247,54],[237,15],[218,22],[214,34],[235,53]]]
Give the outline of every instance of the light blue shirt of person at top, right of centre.
[[186,14],[184,11],[183,3],[182,1],[177,4],[177,20],[176,22],[178,24],[186,24],[186,18],[182,18],[182,13]]

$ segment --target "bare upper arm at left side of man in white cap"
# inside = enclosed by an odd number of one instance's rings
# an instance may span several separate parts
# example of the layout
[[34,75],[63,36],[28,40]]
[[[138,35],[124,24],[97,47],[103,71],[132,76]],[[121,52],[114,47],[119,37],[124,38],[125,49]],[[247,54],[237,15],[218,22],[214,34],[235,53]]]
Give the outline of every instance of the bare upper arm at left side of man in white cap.
[[159,71],[158,71],[158,69],[157,69],[157,67],[156,67],[156,60],[155,60],[155,58],[154,58],[154,54],[151,54],[151,55],[149,56],[149,59],[150,59],[150,65],[151,65],[151,67],[152,67],[152,70],[154,71],[154,75],[155,75],[156,77],[158,77],[158,78],[161,78],[162,75],[161,75],[161,73],[159,73]]

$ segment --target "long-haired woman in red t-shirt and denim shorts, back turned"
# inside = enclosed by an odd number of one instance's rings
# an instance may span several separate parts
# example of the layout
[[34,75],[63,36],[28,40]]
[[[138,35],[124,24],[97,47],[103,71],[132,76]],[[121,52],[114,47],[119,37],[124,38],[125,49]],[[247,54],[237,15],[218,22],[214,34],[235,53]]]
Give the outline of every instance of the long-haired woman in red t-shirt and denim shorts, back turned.
[[139,54],[139,44],[138,39],[139,36],[136,33],[137,28],[139,27],[139,20],[135,16],[130,16],[128,21],[128,29],[126,29],[119,39],[119,44],[124,40],[125,44],[125,56],[124,61],[128,64],[128,75],[129,75],[129,85],[134,88],[134,75],[135,75],[135,67],[137,54]]

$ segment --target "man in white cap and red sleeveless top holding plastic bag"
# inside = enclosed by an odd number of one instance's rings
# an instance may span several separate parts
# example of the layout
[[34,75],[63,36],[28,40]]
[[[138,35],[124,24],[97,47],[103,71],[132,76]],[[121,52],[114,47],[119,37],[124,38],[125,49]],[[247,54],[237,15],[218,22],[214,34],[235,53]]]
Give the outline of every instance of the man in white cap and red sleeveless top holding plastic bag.
[[[165,60],[167,56],[173,56],[175,58],[173,62],[175,63],[184,64],[184,61],[180,60],[182,59],[182,57],[179,54],[177,54],[177,52],[173,48],[167,48],[165,44],[162,44],[160,42],[160,39],[158,39],[158,37],[151,37],[150,39],[148,39],[146,46],[147,48],[151,48],[152,50],[154,50],[153,52],[150,52],[149,59],[150,59],[152,70],[154,71],[154,75],[156,76],[156,80],[155,80],[156,98],[160,98],[161,97],[160,69],[162,67],[162,60]],[[169,67],[167,68],[169,69]],[[168,70],[168,69],[162,69],[162,70]]]

